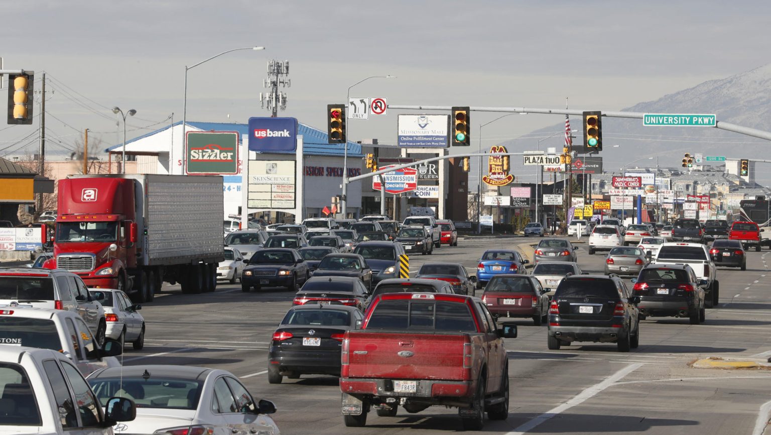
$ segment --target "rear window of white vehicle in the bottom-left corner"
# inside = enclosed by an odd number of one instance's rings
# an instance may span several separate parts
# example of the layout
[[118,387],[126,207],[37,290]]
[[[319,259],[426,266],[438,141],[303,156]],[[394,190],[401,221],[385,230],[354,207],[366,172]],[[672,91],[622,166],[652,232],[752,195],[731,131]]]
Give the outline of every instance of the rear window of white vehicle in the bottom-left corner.
[[[40,410],[35,403],[35,392],[22,366],[9,362],[0,363],[0,385],[2,403],[6,411],[0,416],[0,426],[8,433],[37,433],[38,430],[15,428],[14,426],[42,426]],[[45,393],[43,393],[45,394]],[[10,411],[10,410],[14,411]],[[49,411],[50,413],[50,411]]]

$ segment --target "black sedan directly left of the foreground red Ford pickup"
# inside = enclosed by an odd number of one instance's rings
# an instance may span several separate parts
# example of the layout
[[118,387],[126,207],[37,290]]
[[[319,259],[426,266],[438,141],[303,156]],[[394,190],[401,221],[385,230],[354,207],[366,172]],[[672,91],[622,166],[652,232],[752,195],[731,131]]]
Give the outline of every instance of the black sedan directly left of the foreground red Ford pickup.
[[284,315],[273,332],[268,353],[268,382],[287,376],[340,376],[342,339],[358,328],[362,312],[345,305],[298,305]]

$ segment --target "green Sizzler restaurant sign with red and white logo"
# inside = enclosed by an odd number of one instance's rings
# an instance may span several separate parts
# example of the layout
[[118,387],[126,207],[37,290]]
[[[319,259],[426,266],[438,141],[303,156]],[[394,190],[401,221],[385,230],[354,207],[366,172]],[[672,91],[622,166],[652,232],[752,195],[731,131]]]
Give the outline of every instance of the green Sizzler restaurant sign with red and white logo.
[[237,174],[238,132],[187,132],[185,172],[188,175]]

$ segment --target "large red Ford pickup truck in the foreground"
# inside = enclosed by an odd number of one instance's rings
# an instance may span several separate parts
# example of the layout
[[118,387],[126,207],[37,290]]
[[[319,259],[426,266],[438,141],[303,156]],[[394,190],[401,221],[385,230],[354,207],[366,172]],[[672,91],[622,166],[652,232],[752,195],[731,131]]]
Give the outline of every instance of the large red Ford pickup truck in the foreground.
[[508,358],[504,338],[517,325],[497,329],[480,298],[433,293],[375,297],[362,328],[342,342],[342,413],[345,426],[362,427],[374,407],[396,416],[399,406],[418,413],[457,406],[467,430],[480,430],[484,413],[509,413]]

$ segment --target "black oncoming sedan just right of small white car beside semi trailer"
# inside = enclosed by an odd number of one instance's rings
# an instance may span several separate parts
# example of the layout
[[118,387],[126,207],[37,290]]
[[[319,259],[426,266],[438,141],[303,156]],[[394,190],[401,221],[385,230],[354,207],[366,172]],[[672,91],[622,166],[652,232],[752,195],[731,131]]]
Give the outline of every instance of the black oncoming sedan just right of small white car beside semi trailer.
[[295,249],[263,249],[255,252],[244,268],[241,290],[248,292],[252,287],[258,290],[262,287],[286,287],[294,292],[308,281],[310,275],[308,265]]

